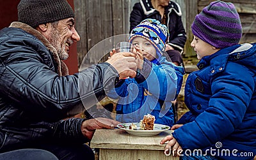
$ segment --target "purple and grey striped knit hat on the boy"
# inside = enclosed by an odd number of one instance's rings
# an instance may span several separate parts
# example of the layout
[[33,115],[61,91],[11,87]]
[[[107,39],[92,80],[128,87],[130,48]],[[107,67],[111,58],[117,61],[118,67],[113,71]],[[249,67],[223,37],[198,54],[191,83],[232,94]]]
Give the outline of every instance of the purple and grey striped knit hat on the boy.
[[214,1],[196,15],[192,33],[216,48],[237,45],[242,25],[234,4]]

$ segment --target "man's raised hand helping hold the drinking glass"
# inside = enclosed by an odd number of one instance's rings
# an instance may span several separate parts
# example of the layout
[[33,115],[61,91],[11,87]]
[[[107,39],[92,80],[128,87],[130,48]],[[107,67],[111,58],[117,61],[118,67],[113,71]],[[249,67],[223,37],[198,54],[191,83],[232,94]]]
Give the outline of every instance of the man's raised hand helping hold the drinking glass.
[[120,79],[127,76],[130,76],[131,78],[136,76],[136,55],[132,54],[131,52],[120,52],[118,54],[113,54],[106,62],[111,64],[111,66],[118,71]]

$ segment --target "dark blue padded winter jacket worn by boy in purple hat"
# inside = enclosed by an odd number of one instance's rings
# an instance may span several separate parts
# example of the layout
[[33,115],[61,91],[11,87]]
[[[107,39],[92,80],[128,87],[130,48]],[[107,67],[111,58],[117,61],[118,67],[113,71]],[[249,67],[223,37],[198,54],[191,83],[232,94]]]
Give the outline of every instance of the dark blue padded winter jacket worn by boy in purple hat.
[[177,122],[184,126],[173,137],[183,150],[202,149],[207,154],[213,150],[220,159],[253,159],[256,44],[223,48],[203,57],[198,68],[186,81],[185,103],[190,111]]

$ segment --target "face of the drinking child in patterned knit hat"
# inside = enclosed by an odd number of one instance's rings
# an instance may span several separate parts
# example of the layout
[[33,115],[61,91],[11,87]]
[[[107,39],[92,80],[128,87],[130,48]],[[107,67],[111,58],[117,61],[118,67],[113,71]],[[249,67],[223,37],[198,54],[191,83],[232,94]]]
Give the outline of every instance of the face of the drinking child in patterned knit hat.
[[[145,57],[145,59],[148,59],[148,61],[152,61],[157,58],[156,48],[154,47],[154,45],[152,45],[152,43],[150,43],[150,41],[146,40],[145,38],[134,38],[132,40],[132,45],[139,45],[139,47],[143,50],[143,57]],[[136,50],[134,49],[132,50],[132,52],[134,52],[135,54]]]

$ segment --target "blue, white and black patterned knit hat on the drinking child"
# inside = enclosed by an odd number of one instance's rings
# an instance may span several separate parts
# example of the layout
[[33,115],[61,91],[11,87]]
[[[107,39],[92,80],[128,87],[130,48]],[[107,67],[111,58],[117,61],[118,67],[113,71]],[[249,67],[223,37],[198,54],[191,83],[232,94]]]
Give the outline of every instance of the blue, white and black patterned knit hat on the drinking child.
[[169,31],[166,25],[155,19],[145,19],[132,29],[129,42],[138,36],[145,38],[154,45],[157,50],[157,60],[159,60],[163,55],[165,43],[169,40]]

